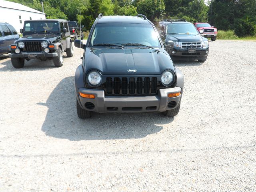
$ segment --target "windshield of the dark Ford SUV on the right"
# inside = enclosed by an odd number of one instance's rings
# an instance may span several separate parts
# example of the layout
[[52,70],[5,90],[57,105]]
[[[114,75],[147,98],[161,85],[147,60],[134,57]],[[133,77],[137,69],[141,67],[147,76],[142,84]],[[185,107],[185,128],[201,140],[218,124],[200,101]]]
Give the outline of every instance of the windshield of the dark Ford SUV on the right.
[[172,23],[168,24],[166,33],[168,34],[192,34],[198,35],[198,31],[191,23]]

